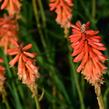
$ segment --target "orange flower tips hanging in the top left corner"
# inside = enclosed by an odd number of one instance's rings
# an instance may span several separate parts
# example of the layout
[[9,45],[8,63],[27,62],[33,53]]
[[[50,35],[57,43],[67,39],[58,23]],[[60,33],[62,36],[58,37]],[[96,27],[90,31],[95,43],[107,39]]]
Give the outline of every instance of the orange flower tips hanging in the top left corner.
[[19,0],[0,0],[3,1],[1,5],[1,10],[6,9],[10,16],[19,14],[21,4]]

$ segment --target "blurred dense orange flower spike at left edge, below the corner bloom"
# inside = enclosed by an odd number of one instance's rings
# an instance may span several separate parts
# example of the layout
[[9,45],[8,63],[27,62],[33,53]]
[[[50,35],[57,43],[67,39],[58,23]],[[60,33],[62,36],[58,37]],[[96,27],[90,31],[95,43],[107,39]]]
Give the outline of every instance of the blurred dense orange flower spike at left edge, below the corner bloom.
[[14,45],[17,40],[18,25],[16,20],[9,16],[4,15],[0,18],[0,46],[4,48],[4,52],[7,53],[7,49]]

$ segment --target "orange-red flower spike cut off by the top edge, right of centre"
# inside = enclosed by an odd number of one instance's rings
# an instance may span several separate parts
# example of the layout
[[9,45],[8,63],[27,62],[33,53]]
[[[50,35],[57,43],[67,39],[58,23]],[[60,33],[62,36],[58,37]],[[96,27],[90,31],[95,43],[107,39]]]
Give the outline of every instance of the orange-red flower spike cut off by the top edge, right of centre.
[[63,28],[70,27],[73,0],[50,0],[50,10],[57,14],[56,21]]

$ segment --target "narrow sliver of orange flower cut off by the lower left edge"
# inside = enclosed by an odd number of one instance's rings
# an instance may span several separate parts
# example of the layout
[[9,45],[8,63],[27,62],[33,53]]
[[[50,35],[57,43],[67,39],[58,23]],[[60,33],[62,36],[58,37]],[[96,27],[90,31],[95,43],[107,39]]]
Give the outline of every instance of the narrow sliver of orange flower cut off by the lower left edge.
[[[0,63],[3,63],[3,59],[0,58]],[[4,89],[4,83],[5,83],[5,75],[4,75],[5,68],[0,65],[0,93],[2,93]]]

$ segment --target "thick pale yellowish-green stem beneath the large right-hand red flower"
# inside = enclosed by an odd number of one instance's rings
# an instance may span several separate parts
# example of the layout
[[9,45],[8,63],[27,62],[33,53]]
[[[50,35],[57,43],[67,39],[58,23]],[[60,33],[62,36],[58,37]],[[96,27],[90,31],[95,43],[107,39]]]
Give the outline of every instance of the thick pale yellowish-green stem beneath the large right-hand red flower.
[[95,85],[94,87],[95,87],[95,93],[96,93],[97,100],[98,100],[99,109],[105,109],[103,98],[101,95],[101,88],[99,85]]

